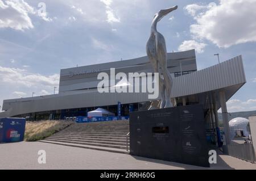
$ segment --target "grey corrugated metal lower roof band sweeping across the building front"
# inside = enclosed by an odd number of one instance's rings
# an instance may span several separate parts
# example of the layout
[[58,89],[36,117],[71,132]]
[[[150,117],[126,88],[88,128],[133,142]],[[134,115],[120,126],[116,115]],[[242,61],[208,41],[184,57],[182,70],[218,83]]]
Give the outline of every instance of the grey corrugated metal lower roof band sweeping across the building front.
[[[241,85],[245,82],[246,78],[243,70],[242,56],[238,56],[207,69],[174,78],[172,96],[180,97],[199,94],[201,92]],[[68,108],[108,106],[115,105],[118,101],[122,104],[146,102],[149,100],[147,96],[147,93],[100,94],[97,90],[94,90],[85,92],[69,91],[67,94],[10,99],[4,100],[3,102],[3,110],[9,111],[0,113],[0,117]]]

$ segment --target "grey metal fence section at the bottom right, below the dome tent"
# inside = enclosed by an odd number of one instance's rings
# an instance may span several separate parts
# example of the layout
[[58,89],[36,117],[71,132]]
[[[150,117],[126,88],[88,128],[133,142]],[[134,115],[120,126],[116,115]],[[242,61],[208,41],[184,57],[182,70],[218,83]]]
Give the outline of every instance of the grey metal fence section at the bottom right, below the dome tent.
[[251,163],[255,163],[256,160],[253,145],[250,143],[228,145],[228,153],[232,157],[240,158]]

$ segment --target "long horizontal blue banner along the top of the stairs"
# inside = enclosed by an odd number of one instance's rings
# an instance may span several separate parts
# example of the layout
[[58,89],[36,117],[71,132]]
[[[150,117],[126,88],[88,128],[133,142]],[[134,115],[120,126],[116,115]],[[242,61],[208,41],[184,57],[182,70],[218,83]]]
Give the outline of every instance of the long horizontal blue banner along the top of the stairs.
[[76,123],[89,123],[89,122],[99,122],[99,121],[115,121],[115,120],[126,120],[129,116],[109,116],[109,117],[85,117],[77,116]]

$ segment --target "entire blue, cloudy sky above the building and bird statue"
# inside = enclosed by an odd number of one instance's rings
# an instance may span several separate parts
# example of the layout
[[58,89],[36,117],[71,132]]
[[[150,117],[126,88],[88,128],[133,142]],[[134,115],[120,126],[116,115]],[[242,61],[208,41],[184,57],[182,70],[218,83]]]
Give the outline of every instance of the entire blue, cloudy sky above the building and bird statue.
[[198,70],[241,54],[228,111],[256,110],[256,0],[0,0],[0,105],[53,94],[60,69],[146,56],[154,14],[175,5],[158,23],[167,51],[196,49]]

